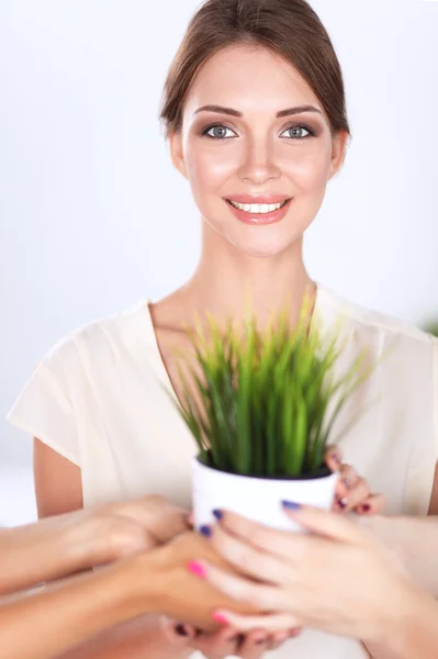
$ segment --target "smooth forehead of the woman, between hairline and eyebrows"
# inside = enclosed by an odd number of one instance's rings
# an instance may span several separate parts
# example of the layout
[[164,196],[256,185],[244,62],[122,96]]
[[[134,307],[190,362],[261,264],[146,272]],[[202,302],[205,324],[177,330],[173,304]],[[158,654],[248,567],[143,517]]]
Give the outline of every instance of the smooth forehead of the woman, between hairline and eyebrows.
[[249,45],[227,46],[202,66],[184,110],[191,114],[209,103],[235,108],[244,113],[255,110],[276,113],[302,104],[323,110],[294,66],[266,48]]

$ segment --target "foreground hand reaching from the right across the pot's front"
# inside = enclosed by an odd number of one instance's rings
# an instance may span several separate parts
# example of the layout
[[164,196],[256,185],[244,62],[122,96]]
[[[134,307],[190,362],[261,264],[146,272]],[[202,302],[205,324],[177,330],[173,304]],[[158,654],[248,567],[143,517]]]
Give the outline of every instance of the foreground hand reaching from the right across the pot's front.
[[344,516],[307,506],[287,514],[313,534],[273,530],[228,512],[212,527],[212,547],[247,578],[203,560],[198,574],[270,614],[221,608],[215,619],[240,632],[307,626],[382,641],[417,595],[396,554]]

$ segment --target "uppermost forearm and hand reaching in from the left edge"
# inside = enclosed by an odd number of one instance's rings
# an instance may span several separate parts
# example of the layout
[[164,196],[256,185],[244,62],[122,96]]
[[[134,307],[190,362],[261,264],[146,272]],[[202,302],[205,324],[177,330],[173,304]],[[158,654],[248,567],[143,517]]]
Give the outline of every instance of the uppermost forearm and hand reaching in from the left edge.
[[187,511],[154,495],[2,529],[0,593],[151,549],[188,528]]

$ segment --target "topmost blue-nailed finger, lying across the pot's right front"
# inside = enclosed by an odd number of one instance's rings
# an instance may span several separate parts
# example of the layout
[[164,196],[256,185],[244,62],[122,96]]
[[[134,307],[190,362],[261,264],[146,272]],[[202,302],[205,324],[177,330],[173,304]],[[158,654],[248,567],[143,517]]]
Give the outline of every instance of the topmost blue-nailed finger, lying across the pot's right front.
[[[293,504],[293,502],[289,503],[290,506],[284,506],[284,512],[292,520],[313,533],[334,540],[353,544],[363,541],[366,537],[359,526],[347,517],[313,506],[297,505]],[[302,539],[308,541],[312,538],[303,536]]]

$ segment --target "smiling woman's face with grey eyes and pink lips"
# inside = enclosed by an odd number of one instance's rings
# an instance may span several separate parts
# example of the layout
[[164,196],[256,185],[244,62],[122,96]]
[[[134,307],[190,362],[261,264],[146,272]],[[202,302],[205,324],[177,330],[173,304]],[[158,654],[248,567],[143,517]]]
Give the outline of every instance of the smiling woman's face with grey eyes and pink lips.
[[239,45],[220,51],[199,71],[170,149],[215,236],[270,257],[301,241],[341,165],[346,139],[332,135],[321,102],[294,67]]

